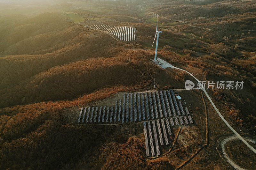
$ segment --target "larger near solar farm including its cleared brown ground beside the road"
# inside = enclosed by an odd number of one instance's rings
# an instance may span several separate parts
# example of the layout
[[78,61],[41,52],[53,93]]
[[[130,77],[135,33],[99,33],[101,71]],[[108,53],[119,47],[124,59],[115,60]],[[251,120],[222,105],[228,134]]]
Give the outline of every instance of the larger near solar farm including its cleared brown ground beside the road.
[[[197,102],[189,102],[189,96]],[[118,92],[103,101],[67,108],[63,117],[77,126],[116,126],[141,140],[148,159],[168,156],[185,161],[205,144],[204,116],[191,110],[204,107],[201,97],[198,90]]]

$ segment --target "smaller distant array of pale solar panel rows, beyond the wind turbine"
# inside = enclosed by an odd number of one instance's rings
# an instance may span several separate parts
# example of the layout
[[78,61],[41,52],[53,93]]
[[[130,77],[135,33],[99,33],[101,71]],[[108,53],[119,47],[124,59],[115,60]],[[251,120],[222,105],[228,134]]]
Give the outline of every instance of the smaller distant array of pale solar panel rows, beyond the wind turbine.
[[96,28],[98,30],[107,31],[117,39],[121,41],[134,41],[137,36],[135,32],[137,32],[137,28],[131,28],[127,26],[109,26],[109,25],[91,25],[90,27]]

